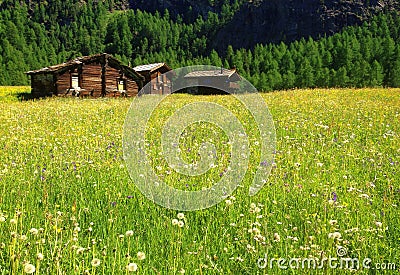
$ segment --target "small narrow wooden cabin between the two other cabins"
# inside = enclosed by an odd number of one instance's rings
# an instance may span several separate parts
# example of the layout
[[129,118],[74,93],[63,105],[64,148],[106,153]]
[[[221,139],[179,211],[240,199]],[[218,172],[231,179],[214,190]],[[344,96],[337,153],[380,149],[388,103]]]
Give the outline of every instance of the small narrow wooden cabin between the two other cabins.
[[136,66],[133,69],[144,77],[145,85],[151,82],[151,87],[146,91],[147,93],[160,95],[171,93],[171,80],[166,75],[163,75],[171,71],[167,64],[146,64]]

